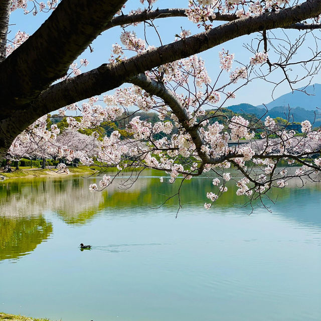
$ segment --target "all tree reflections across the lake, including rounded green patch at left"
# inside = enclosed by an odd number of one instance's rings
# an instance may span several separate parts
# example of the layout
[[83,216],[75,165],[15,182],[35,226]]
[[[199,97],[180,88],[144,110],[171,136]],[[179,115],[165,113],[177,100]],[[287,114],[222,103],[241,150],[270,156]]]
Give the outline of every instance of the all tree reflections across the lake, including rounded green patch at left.
[[[97,182],[99,178],[83,179],[82,177],[38,178],[33,180],[20,179],[5,181],[0,186],[0,260],[19,258],[33,251],[38,244],[47,240],[53,227],[44,215],[48,212],[57,215],[68,225],[88,223],[101,212],[104,215],[131,216],[151,213],[144,209],[156,208],[164,203],[167,196],[177,192],[181,182],[168,184],[159,182],[159,178],[152,177],[146,172],[145,178],[138,179],[129,190],[121,190],[119,184],[108,187],[101,193],[90,193],[88,186]],[[123,178],[124,179],[124,178]],[[237,180],[237,178],[236,178]],[[121,180],[117,181],[118,183]],[[242,206],[246,198],[236,196],[235,182],[228,182],[228,192],[220,198],[208,213],[234,213],[235,206]],[[285,189],[274,189],[270,193],[278,204],[289,203],[290,195],[295,193],[293,202],[298,208],[305,203],[307,195],[319,193],[321,186],[317,184],[304,187],[304,193],[297,187],[299,182],[292,180]],[[207,201],[206,192],[215,192],[211,179],[198,178],[186,181],[182,188],[181,201],[183,209],[193,207],[202,208]],[[270,203],[266,203],[271,205]],[[171,199],[165,207],[173,209],[173,216],[178,209],[177,198]],[[277,215],[289,216],[302,223],[313,223],[321,226],[318,206],[313,207],[303,217],[300,211],[288,204],[289,213],[277,211]],[[137,211],[137,209],[139,209]],[[317,211],[317,213],[314,211]],[[248,213],[251,210],[249,209]],[[315,213],[314,213],[315,212]]]

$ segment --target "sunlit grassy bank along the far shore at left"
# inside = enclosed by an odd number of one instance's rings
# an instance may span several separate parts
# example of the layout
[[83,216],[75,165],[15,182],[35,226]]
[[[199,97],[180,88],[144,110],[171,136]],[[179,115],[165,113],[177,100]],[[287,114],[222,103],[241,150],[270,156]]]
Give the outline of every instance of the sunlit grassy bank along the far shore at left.
[[[57,172],[53,167],[38,169],[38,168],[25,168],[20,170],[15,170],[11,173],[0,172],[0,180],[8,179],[20,179],[20,178],[35,178],[35,177],[58,177],[58,176],[71,176],[79,174],[88,174],[93,175],[100,170],[97,166],[79,166],[79,167],[70,167],[69,174]],[[1,321],[1,319],[0,319]]]

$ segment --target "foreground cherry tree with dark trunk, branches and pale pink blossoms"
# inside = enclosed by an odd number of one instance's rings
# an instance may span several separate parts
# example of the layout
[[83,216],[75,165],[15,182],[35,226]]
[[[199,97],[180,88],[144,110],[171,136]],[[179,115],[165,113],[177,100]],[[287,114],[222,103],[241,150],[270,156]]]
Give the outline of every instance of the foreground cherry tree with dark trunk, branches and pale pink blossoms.
[[[32,36],[19,32],[7,44],[10,12],[24,9],[28,13],[28,1],[0,0],[1,155],[9,148],[14,154],[19,141],[28,143],[33,132],[44,142],[43,147],[38,142],[40,149],[57,148],[67,159],[79,158],[79,147],[59,147],[57,128],[47,128],[40,118],[60,108],[61,116],[70,111],[81,113],[81,118],[68,115],[68,133],[96,128],[103,121],[124,122],[126,137],[118,130],[102,141],[92,136],[91,147],[83,150],[85,163],[94,151],[102,166],[117,167],[118,174],[125,168],[150,168],[169,173],[169,183],[179,175],[183,183],[214,171],[221,178],[213,181],[206,208],[226,192],[231,166],[242,175],[236,181],[237,194],[251,199],[261,198],[273,186],[284,188],[294,176],[319,180],[321,130],[312,130],[304,121],[298,134],[288,130],[289,119],[279,128],[269,117],[229,117],[222,113],[222,106],[235,97],[238,88],[257,78],[268,80],[276,70],[283,77],[274,80],[275,86],[286,81],[291,88],[299,81],[293,78],[293,68],[302,67],[304,77],[310,78],[319,72],[320,52],[313,30],[321,27],[321,2],[190,0],[185,9],[154,9],[154,0],[140,0],[145,8],[127,14],[125,0],[79,0],[77,5],[71,0],[30,2],[34,14],[52,13]],[[172,43],[163,45],[159,37],[162,45],[155,47],[132,31],[136,24],[144,23],[157,32],[153,22],[171,17],[186,17],[187,25],[197,24],[200,33],[191,35],[182,28]],[[74,60],[102,31],[119,26],[120,43],[113,44],[109,62],[81,73]],[[298,36],[294,42],[286,35],[279,39],[270,32],[278,28],[296,30]],[[247,34],[254,37],[247,46],[251,58],[236,61],[237,53],[223,48],[221,72],[211,80],[206,63],[197,54]],[[315,40],[315,49],[310,49],[304,61],[296,61],[307,37]],[[284,43],[279,46],[280,41]],[[131,85],[120,87],[124,83]],[[104,94],[112,89],[113,93]],[[88,101],[79,104],[83,99]],[[155,111],[159,120],[141,120],[134,116],[136,110]],[[248,143],[242,144],[243,139]],[[285,168],[293,163],[299,165],[294,172]],[[280,164],[287,165],[280,169]],[[100,187],[93,184],[90,190],[107,187],[117,175],[104,176]]]

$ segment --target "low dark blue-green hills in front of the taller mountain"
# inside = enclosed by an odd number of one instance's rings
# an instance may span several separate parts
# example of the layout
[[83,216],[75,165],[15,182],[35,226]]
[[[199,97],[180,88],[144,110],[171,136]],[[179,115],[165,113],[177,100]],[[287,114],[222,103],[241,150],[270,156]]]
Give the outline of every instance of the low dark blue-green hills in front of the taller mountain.
[[[260,118],[266,113],[265,108],[259,108],[250,104],[239,104],[227,107],[227,109],[232,110],[238,114],[254,114],[256,117]],[[287,106],[275,106],[272,109],[268,110],[266,116],[270,116],[271,118],[280,117],[283,119],[288,118],[288,114],[290,114],[290,121],[301,122],[303,120],[309,120],[311,123],[314,122],[313,126],[321,125],[321,110],[306,110],[302,107],[291,108],[290,112]]]

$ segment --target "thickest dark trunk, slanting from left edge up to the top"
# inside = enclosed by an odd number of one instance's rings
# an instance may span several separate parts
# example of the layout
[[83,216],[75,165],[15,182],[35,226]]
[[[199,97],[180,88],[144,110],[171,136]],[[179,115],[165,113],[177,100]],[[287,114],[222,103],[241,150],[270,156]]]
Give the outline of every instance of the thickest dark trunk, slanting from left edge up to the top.
[[53,81],[63,77],[125,2],[62,0],[46,22],[0,65],[5,106],[0,119],[13,109],[23,109]]

